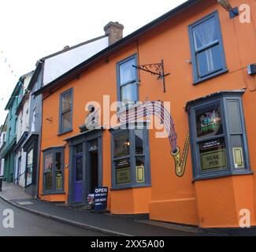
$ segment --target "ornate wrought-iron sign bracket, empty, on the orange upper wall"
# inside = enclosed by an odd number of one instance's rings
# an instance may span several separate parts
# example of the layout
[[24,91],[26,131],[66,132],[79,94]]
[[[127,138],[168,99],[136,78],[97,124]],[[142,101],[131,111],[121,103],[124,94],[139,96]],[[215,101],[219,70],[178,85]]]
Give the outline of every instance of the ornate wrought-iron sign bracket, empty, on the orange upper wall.
[[161,63],[147,64],[147,65],[132,65],[135,69],[139,69],[145,72],[150,72],[152,76],[158,76],[158,80],[163,80],[164,93],[166,92],[165,77],[170,73],[165,74],[164,60]]

